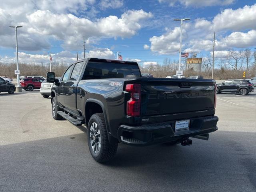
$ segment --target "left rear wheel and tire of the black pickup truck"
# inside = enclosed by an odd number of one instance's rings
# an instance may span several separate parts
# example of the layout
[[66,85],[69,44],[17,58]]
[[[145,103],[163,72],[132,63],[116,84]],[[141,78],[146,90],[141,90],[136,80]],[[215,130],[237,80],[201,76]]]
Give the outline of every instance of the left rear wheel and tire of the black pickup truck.
[[114,158],[118,142],[109,142],[103,113],[91,116],[87,126],[87,142],[90,153],[97,162],[103,163]]

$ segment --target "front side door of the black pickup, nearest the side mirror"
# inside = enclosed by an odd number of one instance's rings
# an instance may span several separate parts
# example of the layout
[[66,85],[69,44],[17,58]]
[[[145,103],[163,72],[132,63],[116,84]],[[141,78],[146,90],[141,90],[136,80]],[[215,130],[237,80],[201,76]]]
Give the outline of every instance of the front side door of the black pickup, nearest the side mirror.
[[64,102],[65,91],[64,91],[64,86],[65,86],[66,82],[68,82],[68,80],[69,80],[69,77],[70,77],[70,74],[72,72],[73,66],[74,65],[70,65],[69,66],[69,68],[63,74],[62,78],[60,78],[59,86],[56,87],[57,102],[63,108],[65,108],[65,102]]

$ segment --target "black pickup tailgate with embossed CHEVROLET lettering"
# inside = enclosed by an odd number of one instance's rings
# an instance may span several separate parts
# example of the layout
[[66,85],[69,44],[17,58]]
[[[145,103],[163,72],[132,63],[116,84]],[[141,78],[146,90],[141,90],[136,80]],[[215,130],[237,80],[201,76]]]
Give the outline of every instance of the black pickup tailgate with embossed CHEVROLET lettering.
[[214,80],[145,78],[141,82],[141,116],[214,109]]

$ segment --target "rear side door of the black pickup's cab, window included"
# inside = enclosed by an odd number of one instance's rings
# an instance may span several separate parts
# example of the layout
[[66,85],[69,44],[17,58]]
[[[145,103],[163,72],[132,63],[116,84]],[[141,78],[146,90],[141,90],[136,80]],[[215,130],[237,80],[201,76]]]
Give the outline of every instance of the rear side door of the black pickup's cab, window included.
[[79,81],[79,74],[83,66],[82,62],[77,62],[74,64],[74,68],[72,70],[72,73],[70,75],[70,78],[67,82],[64,84],[64,103],[65,108],[69,112],[73,114],[78,114],[77,108],[76,108],[76,92],[77,92],[77,84]]

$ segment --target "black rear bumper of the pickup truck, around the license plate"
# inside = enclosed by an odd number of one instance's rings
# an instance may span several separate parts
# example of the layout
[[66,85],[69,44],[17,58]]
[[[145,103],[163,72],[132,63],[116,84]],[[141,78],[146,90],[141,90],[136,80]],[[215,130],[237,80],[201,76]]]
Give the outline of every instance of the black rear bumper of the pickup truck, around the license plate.
[[142,126],[121,125],[118,128],[118,140],[124,144],[146,146],[171,141],[179,141],[183,138],[202,135],[218,130],[217,116],[191,118],[190,128],[175,131],[175,120]]

